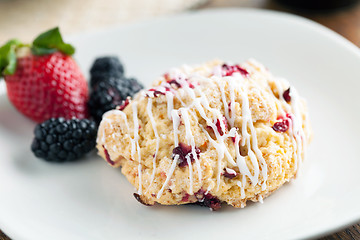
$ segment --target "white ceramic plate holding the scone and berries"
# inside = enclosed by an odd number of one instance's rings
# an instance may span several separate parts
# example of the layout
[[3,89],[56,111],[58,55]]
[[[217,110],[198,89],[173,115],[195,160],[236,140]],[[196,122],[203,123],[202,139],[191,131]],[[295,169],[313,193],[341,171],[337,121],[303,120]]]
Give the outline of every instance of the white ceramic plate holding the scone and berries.
[[32,127],[0,101],[0,228],[14,239],[297,239],[360,220],[360,52],[303,18],[213,10],[160,18],[72,39],[88,71],[115,54],[148,84],[172,66],[254,57],[308,100],[314,129],[299,178],[263,204],[219,212],[145,207],[118,169],[95,154],[50,164],[30,152]]

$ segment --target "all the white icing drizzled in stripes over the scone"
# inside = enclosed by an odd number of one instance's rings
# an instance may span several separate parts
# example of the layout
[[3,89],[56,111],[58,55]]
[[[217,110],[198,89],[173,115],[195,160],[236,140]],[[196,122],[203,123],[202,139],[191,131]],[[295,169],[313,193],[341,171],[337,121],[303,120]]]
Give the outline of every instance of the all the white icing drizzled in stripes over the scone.
[[[251,64],[254,64],[257,66],[257,63],[252,60]],[[266,71],[264,67],[259,66],[261,71]],[[208,133],[208,130],[205,129],[202,125],[199,124],[200,128],[204,132],[207,140],[211,144],[211,146],[214,147],[214,149],[217,152],[218,160],[217,160],[217,175],[216,175],[216,191],[219,190],[220,182],[221,182],[221,174],[223,172],[223,169],[225,166],[223,166],[223,160],[226,159],[228,164],[232,166],[237,166],[239,168],[239,171],[241,173],[241,180],[238,180],[236,184],[240,188],[240,194],[241,198],[244,199],[246,197],[245,195],[245,187],[247,178],[250,180],[252,185],[260,185],[262,190],[265,190],[266,188],[266,181],[268,178],[267,173],[267,164],[265,162],[265,159],[262,156],[262,152],[259,149],[257,136],[256,136],[256,130],[253,124],[253,119],[251,115],[251,110],[249,106],[249,97],[248,93],[246,91],[245,84],[247,84],[246,79],[241,74],[234,74],[233,76],[227,76],[222,77],[222,68],[221,66],[216,66],[212,70],[213,76],[206,78],[204,76],[201,76],[200,74],[191,73],[192,69],[190,67],[186,67],[185,70],[181,72],[179,69],[172,69],[169,72],[170,79],[175,79],[178,84],[181,85],[177,90],[174,90],[170,83],[164,81],[161,83],[160,86],[155,87],[156,91],[159,91],[160,95],[165,95],[166,101],[167,101],[167,117],[172,120],[173,125],[173,135],[174,135],[174,147],[179,146],[179,125],[180,125],[180,116],[181,116],[181,122],[185,126],[185,139],[187,141],[187,144],[191,146],[191,153],[195,160],[196,168],[197,168],[197,177],[199,179],[199,182],[202,181],[202,172],[201,172],[201,158],[199,159],[196,154],[196,144],[195,144],[195,138],[191,129],[191,122],[190,117],[196,118],[196,114],[192,109],[196,110],[198,114],[204,119],[206,122],[207,127],[211,128],[215,139],[213,139],[210,134]],[[217,86],[220,89],[221,94],[221,101],[224,107],[224,114],[225,118],[229,124],[230,130],[228,131],[226,129],[226,126],[224,122],[222,121],[223,115],[219,111],[219,109],[212,108],[209,104],[209,100],[207,99],[205,93],[201,90],[201,88],[193,88],[192,84],[194,82],[189,81],[189,79],[199,79],[199,81],[206,81],[206,84],[208,84],[204,89],[212,88],[213,86]],[[279,112],[282,115],[286,115],[286,113],[291,114],[292,121],[289,127],[289,135],[292,137],[292,142],[294,145],[296,145],[296,151],[294,151],[294,160],[296,163],[296,169],[298,169],[298,165],[301,163],[301,153],[303,152],[305,148],[305,144],[303,143],[305,141],[305,133],[302,128],[302,116],[301,116],[301,102],[300,98],[297,94],[297,91],[294,87],[291,87],[290,96],[291,96],[291,103],[287,103],[285,99],[283,98],[282,93],[284,92],[283,89],[283,83],[281,83],[277,79],[272,79],[275,83],[275,86],[277,88],[277,91],[279,93],[279,99],[281,102],[283,102],[285,106],[285,111],[282,108],[279,108]],[[194,80],[193,80],[194,81]],[[249,79],[251,83],[255,83],[255,86],[258,87],[258,83],[256,83],[251,78]],[[175,84],[177,85],[177,84]],[[270,88],[269,88],[270,89]],[[255,91],[257,89],[255,88]],[[235,92],[236,91],[236,92]],[[227,99],[227,94],[228,98]],[[235,93],[240,95],[241,98],[241,115],[242,115],[242,128],[237,129],[235,127]],[[259,92],[260,94],[260,92]],[[182,101],[183,96],[189,96],[191,98],[191,101],[189,104],[185,104]],[[155,91],[143,91],[141,93],[141,97],[148,98],[147,108],[146,112],[149,116],[149,120],[151,122],[154,135],[156,138],[156,150],[155,154],[153,156],[153,172],[151,175],[151,182],[147,189],[147,191],[150,189],[152,183],[154,182],[155,173],[156,173],[156,159],[159,151],[159,144],[160,144],[160,136],[162,138],[164,137],[164,134],[158,133],[156,122],[152,113],[152,106],[153,106],[153,99],[154,97],[157,97],[157,94]],[[174,97],[181,103],[182,107],[179,109],[174,109]],[[141,152],[140,152],[140,145],[139,145],[139,122],[138,122],[138,113],[137,113],[137,102],[132,103],[132,111],[133,111],[133,138],[130,137],[130,134],[126,134],[131,141],[131,157],[135,159],[135,154],[137,152],[138,154],[138,176],[139,176],[139,186],[138,186],[138,194],[142,194],[142,165],[141,165]],[[121,115],[125,126],[128,129],[129,132],[129,125],[127,123],[127,117],[126,114],[119,110],[113,110],[108,112],[104,115],[103,121],[109,121],[107,117],[111,114],[118,114]],[[208,113],[208,114],[207,114]],[[218,131],[218,127],[216,125],[216,121],[220,121],[220,128],[222,133]],[[111,124],[111,123],[110,123]],[[115,136],[113,136],[115,137]],[[228,138],[234,138],[234,144],[235,146],[246,146],[247,147],[247,155],[250,160],[250,164],[252,165],[252,171],[250,171],[250,166],[247,165],[246,157],[242,156],[240,154],[239,147],[235,147],[235,159],[231,156],[229,149],[227,147],[227,141]],[[105,133],[102,134],[102,139],[97,141],[102,141],[105,143]],[[160,191],[157,193],[156,197],[160,198],[165,190],[165,188],[168,186],[169,181],[172,178],[172,175],[174,173],[174,170],[177,167],[179,156],[174,155],[172,156],[174,159],[171,162],[171,165],[166,173],[166,180],[163,183]],[[189,194],[193,194],[193,165],[190,159],[189,154],[185,156],[186,161],[188,163],[189,168]],[[295,169],[295,170],[296,170]],[[236,172],[231,168],[226,168],[226,171],[229,173],[236,174]],[[260,182],[260,175],[262,176],[262,183]],[[214,184],[209,184],[206,194],[213,189]],[[146,191],[146,192],[147,192]],[[258,200],[262,202],[262,196],[258,195]]]

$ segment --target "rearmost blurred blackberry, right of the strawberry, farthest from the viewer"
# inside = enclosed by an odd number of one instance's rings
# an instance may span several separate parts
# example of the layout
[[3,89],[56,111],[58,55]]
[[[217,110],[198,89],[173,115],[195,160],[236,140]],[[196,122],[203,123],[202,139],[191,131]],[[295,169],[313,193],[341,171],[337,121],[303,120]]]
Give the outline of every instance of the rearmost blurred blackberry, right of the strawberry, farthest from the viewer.
[[117,57],[101,57],[93,63],[90,75],[90,86],[94,87],[98,82],[111,77],[121,78],[124,75],[124,67]]

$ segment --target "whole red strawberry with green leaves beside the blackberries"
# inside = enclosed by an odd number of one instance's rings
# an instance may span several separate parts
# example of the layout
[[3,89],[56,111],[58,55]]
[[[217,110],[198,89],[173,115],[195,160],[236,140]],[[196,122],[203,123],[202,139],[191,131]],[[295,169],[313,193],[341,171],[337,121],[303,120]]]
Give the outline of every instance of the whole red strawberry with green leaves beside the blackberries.
[[31,45],[10,40],[0,48],[0,77],[16,109],[35,122],[87,118],[88,85],[58,28]]

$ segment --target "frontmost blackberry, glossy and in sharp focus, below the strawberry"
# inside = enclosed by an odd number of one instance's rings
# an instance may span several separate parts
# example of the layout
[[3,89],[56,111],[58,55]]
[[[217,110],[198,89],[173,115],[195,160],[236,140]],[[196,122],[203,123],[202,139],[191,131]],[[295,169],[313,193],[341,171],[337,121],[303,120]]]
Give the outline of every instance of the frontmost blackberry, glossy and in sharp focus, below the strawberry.
[[88,119],[51,118],[34,129],[31,150],[49,162],[74,161],[95,147],[96,124]]

